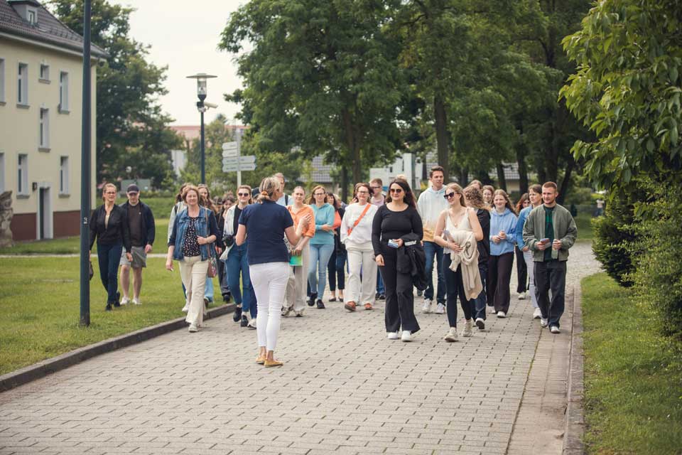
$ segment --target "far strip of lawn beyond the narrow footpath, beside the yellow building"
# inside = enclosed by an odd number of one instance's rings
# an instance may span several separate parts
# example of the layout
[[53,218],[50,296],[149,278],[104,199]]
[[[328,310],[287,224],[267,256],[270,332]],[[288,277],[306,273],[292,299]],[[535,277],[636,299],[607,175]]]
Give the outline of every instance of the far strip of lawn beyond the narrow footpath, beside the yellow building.
[[[156,224],[156,240],[154,240],[155,253],[165,253],[168,249],[166,247],[166,237],[168,235],[168,217],[171,215],[171,208],[173,208],[173,199],[171,198],[142,198],[144,203],[149,205],[154,214],[154,221]],[[124,198],[119,198],[117,203],[124,203]],[[101,203],[101,200],[97,200]],[[97,243],[92,245],[92,252],[97,251]],[[63,255],[63,254],[77,254],[80,252],[80,237],[66,237],[63,239],[53,240],[33,240],[29,242],[18,242],[11,248],[0,248],[0,255],[27,255],[27,254],[47,254],[47,255]]]

